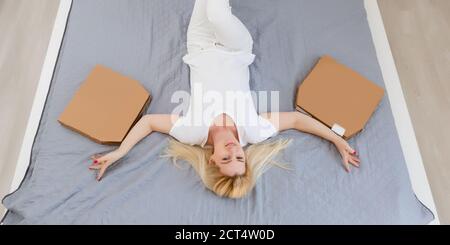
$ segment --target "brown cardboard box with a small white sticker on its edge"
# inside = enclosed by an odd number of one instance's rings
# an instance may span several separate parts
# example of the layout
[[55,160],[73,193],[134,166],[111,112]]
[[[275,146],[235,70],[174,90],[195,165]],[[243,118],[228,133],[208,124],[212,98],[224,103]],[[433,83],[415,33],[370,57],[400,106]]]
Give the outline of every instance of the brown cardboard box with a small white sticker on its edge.
[[330,128],[345,128],[348,139],[364,128],[383,96],[383,88],[324,56],[300,85],[296,104]]

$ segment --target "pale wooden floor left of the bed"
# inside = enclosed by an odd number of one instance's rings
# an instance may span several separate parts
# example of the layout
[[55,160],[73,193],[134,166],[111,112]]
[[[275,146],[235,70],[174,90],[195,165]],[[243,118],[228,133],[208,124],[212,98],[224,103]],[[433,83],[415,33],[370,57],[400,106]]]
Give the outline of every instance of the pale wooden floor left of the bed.
[[0,198],[9,192],[58,5],[0,0]]

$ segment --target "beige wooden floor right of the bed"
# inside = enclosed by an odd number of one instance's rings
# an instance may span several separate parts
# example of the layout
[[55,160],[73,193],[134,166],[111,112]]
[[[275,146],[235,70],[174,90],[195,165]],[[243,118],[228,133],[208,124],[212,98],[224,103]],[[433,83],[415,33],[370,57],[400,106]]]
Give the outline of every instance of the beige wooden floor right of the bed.
[[450,1],[378,0],[442,224],[450,224]]

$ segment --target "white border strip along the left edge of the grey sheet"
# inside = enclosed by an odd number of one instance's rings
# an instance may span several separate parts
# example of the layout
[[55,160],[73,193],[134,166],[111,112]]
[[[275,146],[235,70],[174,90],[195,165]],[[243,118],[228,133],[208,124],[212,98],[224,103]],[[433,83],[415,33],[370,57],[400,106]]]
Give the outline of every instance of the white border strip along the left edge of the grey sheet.
[[41,70],[41,77],[34,95],[33,106],[28,117],[27,128],[22,141],[19,159],[17,161],[14,178],[11,184],[10,192],[14,192],[19,187],[28,165],[30,164],[31,148],[33,147],[34,137],[39,127],[40,118],[44,110],[45,100],[50,88],[50,83],[58,59],[59,49],[62,45],[66,23],[68,21],[72,0],[60,0],[58,13],[56,15],[53,31],[48,45],[44,65]]

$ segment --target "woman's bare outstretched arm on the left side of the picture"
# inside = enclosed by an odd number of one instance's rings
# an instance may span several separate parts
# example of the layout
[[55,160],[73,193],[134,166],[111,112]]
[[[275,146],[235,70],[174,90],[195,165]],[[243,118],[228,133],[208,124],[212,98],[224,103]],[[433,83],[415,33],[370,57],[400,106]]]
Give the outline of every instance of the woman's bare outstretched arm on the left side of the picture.
[[89,169],[98,170],[97,180],[100,181],[106,169],[125,156],[139,141],[152,132],[169,134],[177,119],[178,115],[171,114],[148,114],[143,116],[130,130],[119,148],[104,156],[93,156],[94,162]]

